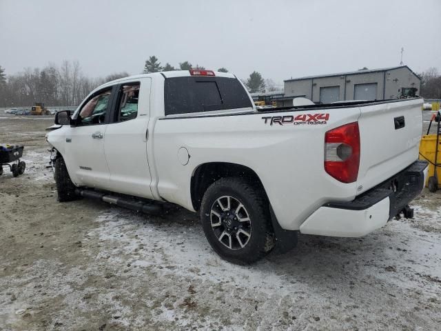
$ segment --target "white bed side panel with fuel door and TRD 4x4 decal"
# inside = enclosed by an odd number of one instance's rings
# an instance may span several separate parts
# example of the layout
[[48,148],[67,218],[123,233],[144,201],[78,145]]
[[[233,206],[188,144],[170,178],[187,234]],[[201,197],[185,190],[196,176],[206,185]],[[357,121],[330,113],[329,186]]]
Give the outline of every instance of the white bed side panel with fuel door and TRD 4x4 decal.
[[[317,111],[321,112],[321,111]],[[305,114],[306,112],[296,112]],[[280,225],[298,230],[302,221],[328,201],[351,201],[356,183],[344,184],[323,169],[325,132],[356,121],[359,108],[329,110],[327,125],[265,125],[267,114],[160,119],[154,132],[158,192],[167,201],[193,210],[189,194],[199,165],[228,162],[245,165],[262,181]],[[285,113],[274,113],[277,116]],[[190,158],[182,165],[179,148]]]

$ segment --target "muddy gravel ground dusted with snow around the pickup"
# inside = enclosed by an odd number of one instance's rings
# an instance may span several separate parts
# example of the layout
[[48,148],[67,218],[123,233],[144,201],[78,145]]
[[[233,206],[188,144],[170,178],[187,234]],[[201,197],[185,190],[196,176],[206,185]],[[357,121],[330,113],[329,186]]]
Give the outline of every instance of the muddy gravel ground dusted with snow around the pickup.
[[57,203],[44,129],[0,117],[28,167],[0,177],[0,330],[440,330],[441,192],[361,239],[301,235],[249,267],[209,248],[195,214]]

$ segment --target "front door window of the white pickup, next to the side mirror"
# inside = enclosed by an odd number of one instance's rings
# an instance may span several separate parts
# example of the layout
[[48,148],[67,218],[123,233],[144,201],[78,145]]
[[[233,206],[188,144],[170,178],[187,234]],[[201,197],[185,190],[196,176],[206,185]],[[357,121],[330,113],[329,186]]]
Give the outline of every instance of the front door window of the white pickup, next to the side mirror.
[[105,123],[105,114],[110,108],[109,101],[112,89],[103,90],[94,95],[81,108],[76,123],[79,126],[91,126]]

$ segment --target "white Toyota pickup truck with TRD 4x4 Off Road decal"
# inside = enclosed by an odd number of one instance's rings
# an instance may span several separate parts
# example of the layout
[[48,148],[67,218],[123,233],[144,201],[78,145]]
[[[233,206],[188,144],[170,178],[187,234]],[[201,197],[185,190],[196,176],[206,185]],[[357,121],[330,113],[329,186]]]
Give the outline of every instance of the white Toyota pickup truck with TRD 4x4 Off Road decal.
[[48,134],[59,201],[199,212],[212,248],[252,263],[297,233],[360,237],[420,194],[422,99],[256,110],[233,75],[156,72],[96,88]]

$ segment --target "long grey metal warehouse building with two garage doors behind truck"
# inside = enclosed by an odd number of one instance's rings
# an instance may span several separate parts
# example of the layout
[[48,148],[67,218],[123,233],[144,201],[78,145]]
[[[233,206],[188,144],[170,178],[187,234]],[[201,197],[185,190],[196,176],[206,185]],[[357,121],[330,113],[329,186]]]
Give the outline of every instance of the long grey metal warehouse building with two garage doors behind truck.
[[402,88],[417,88],[418,94],[420,83],[420,77],[408,66],[287,79],[283,106],[290,106],[289,99],[295,97],[306,97],[314,103],[397,99]]

